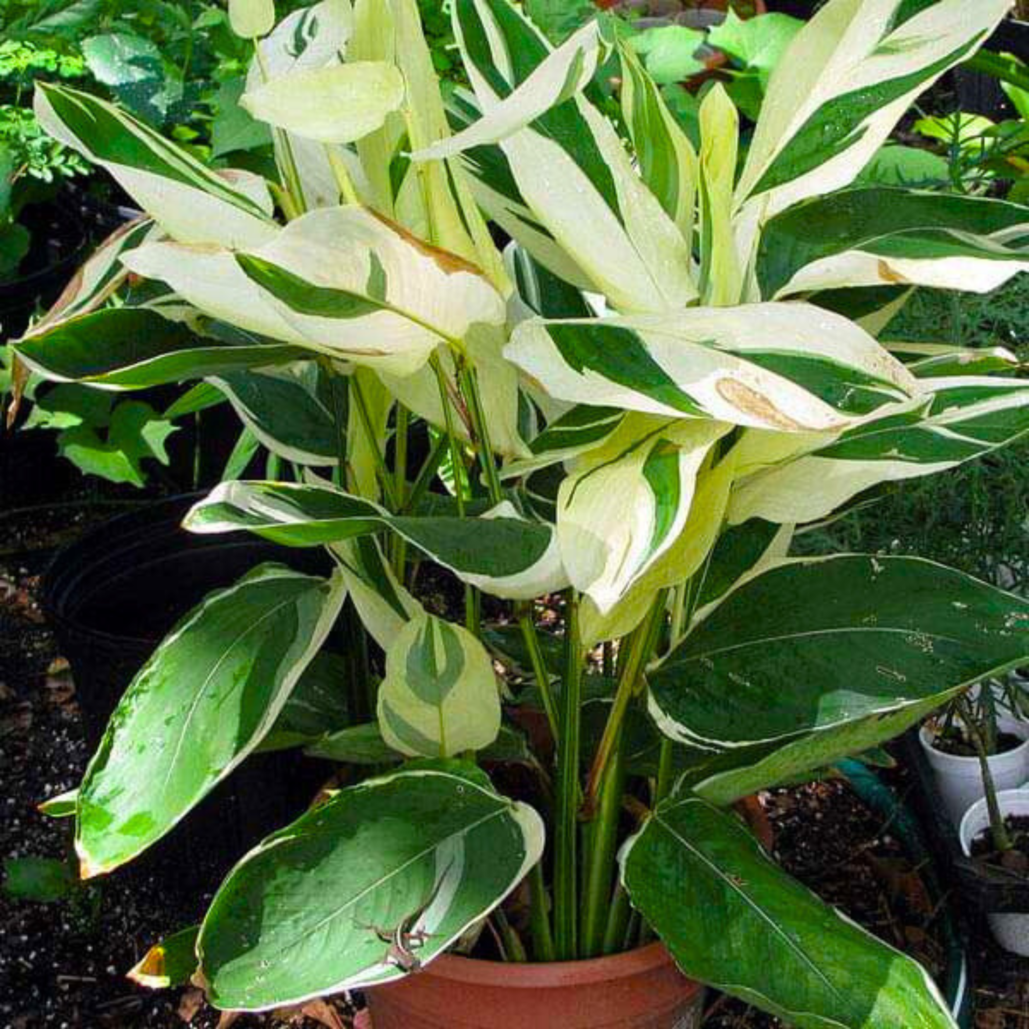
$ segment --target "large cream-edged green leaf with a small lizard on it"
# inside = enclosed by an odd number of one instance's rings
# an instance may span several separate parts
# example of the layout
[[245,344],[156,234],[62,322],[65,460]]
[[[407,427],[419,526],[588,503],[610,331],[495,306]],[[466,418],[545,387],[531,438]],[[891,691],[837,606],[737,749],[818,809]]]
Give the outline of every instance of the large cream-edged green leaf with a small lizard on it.
[[539,860],[543,823],[457,762],[341,790],[269,837],[222,884],[198,943],[208,996],[263,1010],[400,979],[389,934],[443,953]]

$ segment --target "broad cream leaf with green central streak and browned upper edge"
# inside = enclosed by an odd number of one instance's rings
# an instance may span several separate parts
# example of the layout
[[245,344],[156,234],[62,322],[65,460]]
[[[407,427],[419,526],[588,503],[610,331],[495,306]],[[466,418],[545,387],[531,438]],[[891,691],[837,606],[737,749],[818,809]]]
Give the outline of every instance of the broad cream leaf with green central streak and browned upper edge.
[[130,267],[213,318],[397,376],[505,317],[477,269],[358,207],[311,211],[250,253],[154,244]]

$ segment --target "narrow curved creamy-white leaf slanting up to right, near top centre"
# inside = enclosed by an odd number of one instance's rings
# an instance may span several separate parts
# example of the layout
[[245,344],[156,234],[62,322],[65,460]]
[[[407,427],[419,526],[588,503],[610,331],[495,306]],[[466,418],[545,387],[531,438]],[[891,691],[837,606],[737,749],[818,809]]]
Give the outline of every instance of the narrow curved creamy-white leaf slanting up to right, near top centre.
[[552,107],[581,93],[604,62],[608,47],[596,20],[587,23],[499,99],[483,97],[483,115],[455,136],[412,154],[413,161],[453,157],[473,146],[497,143],[531,125]]

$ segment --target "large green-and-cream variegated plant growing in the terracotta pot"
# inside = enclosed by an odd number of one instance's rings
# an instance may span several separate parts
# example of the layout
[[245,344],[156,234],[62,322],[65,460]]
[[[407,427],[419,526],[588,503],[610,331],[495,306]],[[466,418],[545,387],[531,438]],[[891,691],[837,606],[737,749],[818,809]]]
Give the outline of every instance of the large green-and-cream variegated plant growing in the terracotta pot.
[[[359,779],[398,768],[260,844],[175,937],[220,1007],[405,974],[528,875],[535,960],[653,931],[797,1026],[952,1026],[914,961],[789,880],[731,806],[1029,654],[1029,604],[963,574],[788,556],[797,525],[1029,429],[1006,352],[880,339],[913,286],[1025,270],[1029,211],[853,185],[1007,0],[829,0],[742,163],[722,88],[697,150],[601,21],[553,48],[508,0],[454,0],[471,90],[447,109],[414,0],[322,0],[275,29],[270,3],[232,7],[278,177],[41,86],[42,122],[150,220],[16,350],[98,388],[206,380],[183,403],[218,390],[292,474],[226,482],[187,527],[326,547],[335,571],[256,569],[161,645],[78,791],[83,875],[254,749],[307,745]],[[612,75],[617,126],[596,103]],[[130,275],[150,288],[105,306]],[[463,627],[419,600],[425,561],[465,584]],[[385,658],[341,684],[315,655],[346,597]],[[510,720],[526,707],[553,767]],[[540,816],[476,767],[504,760],[553,775],[545,868]],[[648,810],[624,841],[627,794]]]

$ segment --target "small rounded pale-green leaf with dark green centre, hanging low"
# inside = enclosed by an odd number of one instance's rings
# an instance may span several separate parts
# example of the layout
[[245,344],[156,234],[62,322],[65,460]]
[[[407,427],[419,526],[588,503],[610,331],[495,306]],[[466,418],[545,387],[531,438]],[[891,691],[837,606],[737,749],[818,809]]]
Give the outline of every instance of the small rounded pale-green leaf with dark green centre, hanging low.
[[378,717],[386,743],[409,757],[482,750],[500,732],[493,659],[461,626],[412,618],[386,650]]

